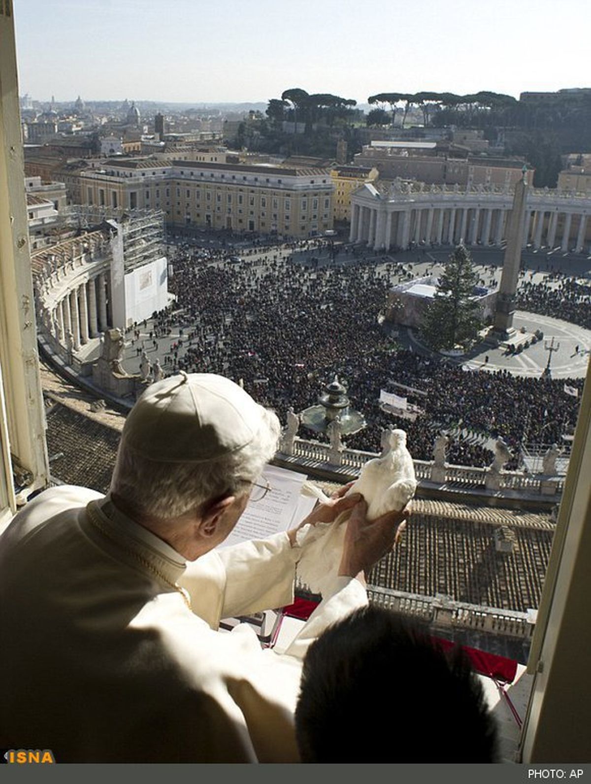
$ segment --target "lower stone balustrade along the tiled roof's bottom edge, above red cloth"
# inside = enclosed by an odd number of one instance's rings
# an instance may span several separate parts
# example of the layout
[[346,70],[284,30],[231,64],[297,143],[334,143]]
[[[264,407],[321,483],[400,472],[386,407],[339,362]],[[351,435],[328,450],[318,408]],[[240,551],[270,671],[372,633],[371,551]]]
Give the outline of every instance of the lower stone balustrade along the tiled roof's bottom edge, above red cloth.
[[473,629],[505,637],[530,639],[535,622],[525,612],[466,604],[444,596],[422,596],[419,593],[368,585],[372,604],[386,607],[404,615],[413,615],[441,628]]

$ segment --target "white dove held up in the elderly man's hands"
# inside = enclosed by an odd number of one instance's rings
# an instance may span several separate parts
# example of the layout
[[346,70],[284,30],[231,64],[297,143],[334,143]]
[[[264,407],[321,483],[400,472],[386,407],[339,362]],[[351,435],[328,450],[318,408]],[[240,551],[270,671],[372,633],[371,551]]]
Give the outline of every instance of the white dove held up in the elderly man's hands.
[[[370,521],[386,512],[404,509],[415,495],[417,484],[404,430],[386,431],[383,442],[389,448],[381,457],[365,463],[346,493],[360,492],[364,496]],[[323,584],[338,572],[350,514],[347,510],[332,523],[304,525],[296,535],[297,543],[303,547],[297,575],[313,593],[322,593]]]

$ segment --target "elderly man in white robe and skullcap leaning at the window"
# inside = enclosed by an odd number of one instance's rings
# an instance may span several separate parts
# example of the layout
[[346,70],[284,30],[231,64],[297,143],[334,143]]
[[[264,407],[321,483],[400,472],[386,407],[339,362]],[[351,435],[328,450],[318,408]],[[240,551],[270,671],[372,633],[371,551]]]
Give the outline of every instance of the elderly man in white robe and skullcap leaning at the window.
[[230,380],[173,376],[130,412],[107,496],[62,485],[16,515],[0,538],[0,746],[57,762],[298,760],[306,648],[367,603],[364,569],[404,513],[368,523],[363,499],[339,496],[306,518],[351,510],[338,575],[285,655],[244,625],[218,631],[292,601],[295,530],[215,549],[279,431]]

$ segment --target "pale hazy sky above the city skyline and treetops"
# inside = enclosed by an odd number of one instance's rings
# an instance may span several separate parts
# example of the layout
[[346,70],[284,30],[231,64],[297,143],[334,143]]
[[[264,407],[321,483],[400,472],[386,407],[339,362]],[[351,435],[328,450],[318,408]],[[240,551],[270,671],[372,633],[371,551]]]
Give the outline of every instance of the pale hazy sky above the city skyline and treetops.
[[38,100],[591,86],[589,0],[14,0]]

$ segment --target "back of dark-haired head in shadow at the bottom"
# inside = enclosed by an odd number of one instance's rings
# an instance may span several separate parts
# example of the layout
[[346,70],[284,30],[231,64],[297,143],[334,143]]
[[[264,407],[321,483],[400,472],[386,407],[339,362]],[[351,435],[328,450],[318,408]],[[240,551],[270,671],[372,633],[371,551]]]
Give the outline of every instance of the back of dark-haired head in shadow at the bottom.
[[328,628],[303,666],[303,762],[494,762],[496,727],[459,651],[426,626],[366,607]]

